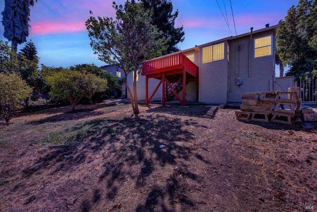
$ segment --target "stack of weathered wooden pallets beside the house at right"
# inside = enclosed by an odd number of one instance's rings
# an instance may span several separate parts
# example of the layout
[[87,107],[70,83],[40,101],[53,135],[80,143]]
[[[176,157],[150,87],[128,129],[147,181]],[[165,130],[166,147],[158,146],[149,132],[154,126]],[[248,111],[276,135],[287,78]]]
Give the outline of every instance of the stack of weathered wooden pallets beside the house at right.
[[236,118],[245,121],[262,121],[291,124],[296,111],[301,108],[299,89],[243,93],[240,111]]

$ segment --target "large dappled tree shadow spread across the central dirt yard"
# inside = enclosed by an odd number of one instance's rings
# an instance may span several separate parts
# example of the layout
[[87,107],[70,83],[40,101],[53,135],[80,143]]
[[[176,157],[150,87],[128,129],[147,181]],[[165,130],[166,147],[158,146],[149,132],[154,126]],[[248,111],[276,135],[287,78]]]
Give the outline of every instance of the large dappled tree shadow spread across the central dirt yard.
[[[200,153],[193,153],[191,142],[194,134],[188,131],[186,126],[198,126],[197,122],[184,122],[178,117],[167,119],[165,115],[157,113],[138,119],[94,119],[85,124],[91,126],[90,130],[95,132],[93,135],[87,135],[82,142],[68,147],[51,146],[41,151],[41,158],[22,170],[25,178],[43,169],[49,169],[52,164],[54,168],[50,168],[51,175],[60,172],[71,175],[75,169],[73,167],[91,163],[99,167],[99,171],[94,173],[98,181],[96,183],[104,185],[106,190],[94,188],[94,192],[81,203],[83,211],[91,210],[92,204],[87,204],[88,202],[97,203],[102,197],[107,201],[118,198],[118,195],[122,194],[122,184],[126,180],[133,183],[134,188],[147,190],[148,193],[148,197],[134,210],[149,209],[150,205],[151,209],[159,205],[167,210],[175,207],[175,199],[179,199],[182,205],[187,205],[186,207],[194,207],[194,203],[184,194],[186,181],[179,184],[176,175],[197,181],[192,168],[183,164],[183,161],[195,158],[209,163]],[[82,125],[76,125],[70,131],[78,131],[81,127]],[[160,145],[164,145],[164,148],[160,148]],[[90,155],[103,157],[102,163],[95,164]],[[149,183],[159,176],[158,171],[167,167],[178,168],[163,173],[166,180],[157,185],[160,190],[157,190],[156,185],[149,188]],[[61,183],[60,186],[64,185]],[[175,186],[178,188],[177,191],[172,189]],[[160,196],[160,199],[170,199],[169,205],[153,201],[151,194],[154,193]]]

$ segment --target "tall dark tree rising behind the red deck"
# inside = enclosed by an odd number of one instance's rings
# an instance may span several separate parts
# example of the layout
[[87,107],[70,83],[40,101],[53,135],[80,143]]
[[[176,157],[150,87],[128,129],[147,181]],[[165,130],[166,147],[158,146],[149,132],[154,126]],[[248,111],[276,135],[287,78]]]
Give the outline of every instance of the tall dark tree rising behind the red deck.
[[167,50],[162,54],[179,51],[177,44],[184,41],[185,32],[183,26],[175,27],[178,10],[173,12],[171,0],[141,0],[141,2],[146,10],[153,10],[152,24],[163,32],[163,37],[169,38]]

